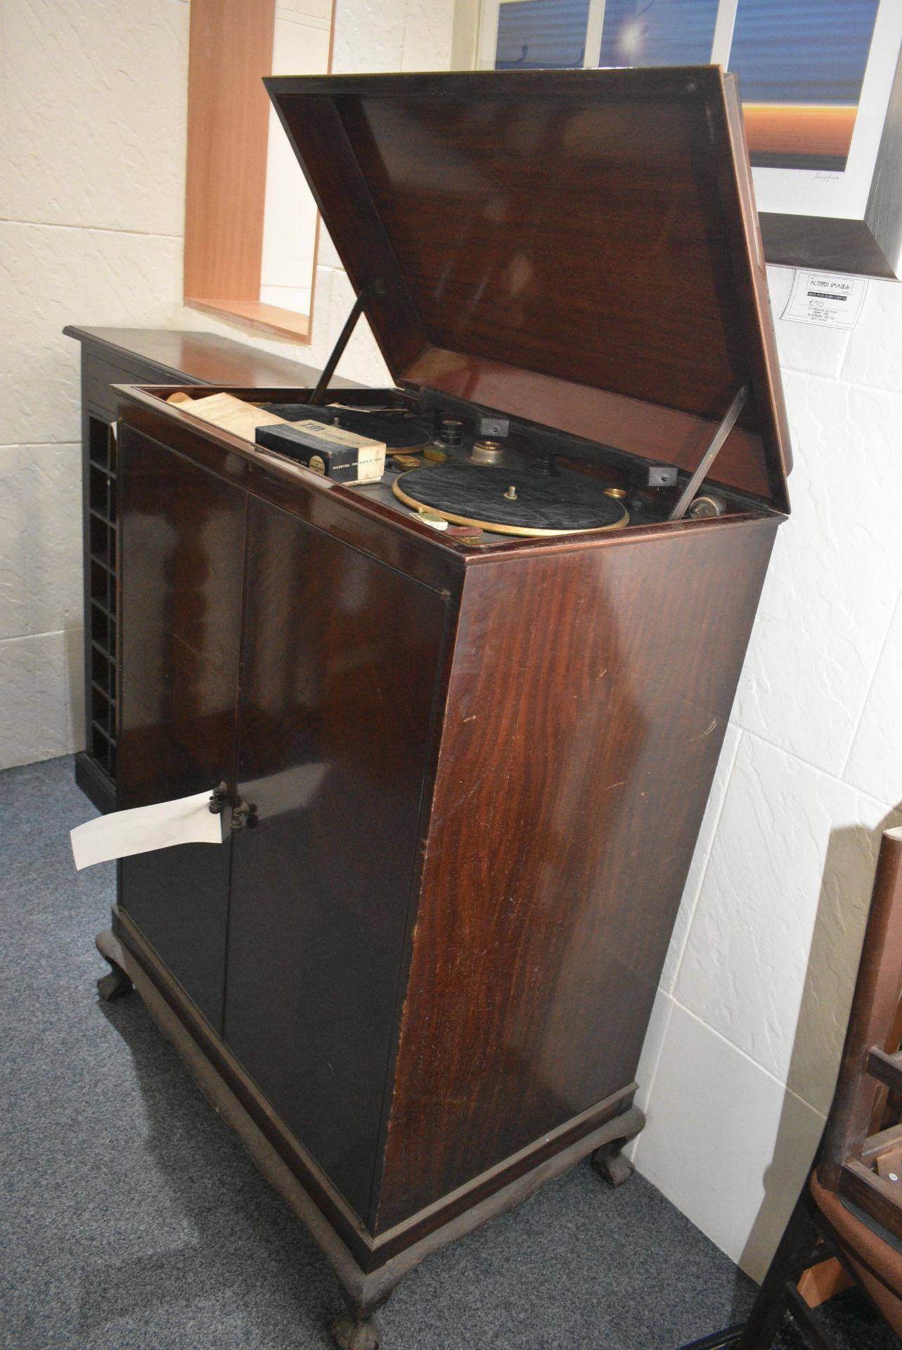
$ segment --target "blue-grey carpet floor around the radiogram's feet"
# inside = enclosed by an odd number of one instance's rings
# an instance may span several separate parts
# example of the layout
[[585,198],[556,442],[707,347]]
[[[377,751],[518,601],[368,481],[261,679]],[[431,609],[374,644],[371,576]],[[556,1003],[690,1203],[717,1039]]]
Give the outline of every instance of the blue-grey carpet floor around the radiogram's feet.
[[[0,774],[0,1346],[325,1350],[342,1311],[305,1230],[194,1089],[139,998],[103,1004],[113,867],[72,761]],[[676,1350],[753,1285],[643,1177],[583,1164],[419,1266],[386,1350]],[[843,1350],[895,1345],[855,1299]],[[793,1339],[786,1341],[793,1346]]]

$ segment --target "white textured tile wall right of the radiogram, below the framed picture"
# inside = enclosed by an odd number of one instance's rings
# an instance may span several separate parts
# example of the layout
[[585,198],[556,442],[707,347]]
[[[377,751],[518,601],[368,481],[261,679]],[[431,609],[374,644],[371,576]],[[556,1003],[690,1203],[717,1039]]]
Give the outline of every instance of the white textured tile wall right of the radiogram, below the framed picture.
[[[791,284],[768,269],[779,315]],[[820,1138],[902,824],[902,285],[776,320],[795,470],[640,1066],[639,1169],[760,1278]]]

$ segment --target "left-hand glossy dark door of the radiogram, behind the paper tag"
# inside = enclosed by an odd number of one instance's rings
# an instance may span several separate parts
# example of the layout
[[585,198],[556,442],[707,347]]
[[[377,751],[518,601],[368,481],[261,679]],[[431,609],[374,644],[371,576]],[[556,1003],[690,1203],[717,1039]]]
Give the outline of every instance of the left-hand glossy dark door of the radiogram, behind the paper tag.
[[[234,783],[247,494],[123,428],[119,807]],[[231,845],[123,859],[120,905],[221,1030]]]

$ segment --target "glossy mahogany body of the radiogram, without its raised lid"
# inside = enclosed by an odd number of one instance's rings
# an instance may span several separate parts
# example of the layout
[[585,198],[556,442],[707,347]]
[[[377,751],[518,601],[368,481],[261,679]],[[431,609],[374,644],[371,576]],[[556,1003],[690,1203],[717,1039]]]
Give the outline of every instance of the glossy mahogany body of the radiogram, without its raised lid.
[[119,433],[120,805],[224,782],[240,828],[124,859],[115,932],[378,1272],[639,1129],[778,520],[477,554],[150,402]]

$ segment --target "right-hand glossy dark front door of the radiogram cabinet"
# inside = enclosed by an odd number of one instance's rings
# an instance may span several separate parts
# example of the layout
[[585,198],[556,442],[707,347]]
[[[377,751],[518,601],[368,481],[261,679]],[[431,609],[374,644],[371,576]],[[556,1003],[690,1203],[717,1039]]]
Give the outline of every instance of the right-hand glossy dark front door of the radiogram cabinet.
[[251,498],[226,1042],[366,1218],[447,602]]

